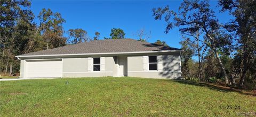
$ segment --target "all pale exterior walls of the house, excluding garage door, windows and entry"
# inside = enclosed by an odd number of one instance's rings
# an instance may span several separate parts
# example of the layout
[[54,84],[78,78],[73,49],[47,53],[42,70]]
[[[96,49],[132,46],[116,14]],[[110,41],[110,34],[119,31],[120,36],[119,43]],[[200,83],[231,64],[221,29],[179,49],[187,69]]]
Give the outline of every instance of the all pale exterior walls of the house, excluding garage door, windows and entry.
[[[143,77],[143,78],[168,78],[179,79],[181,78],[180,68],[180,52],[169,53],[148,53],[145,55],[123,55],[127,56],[127,76],[130,77]],[[154,71],[145,68],[145,57],[157,56],[158,67]],[[105,56],[103,57],[104,68],[102,71],[92,71],[89,69],[89,58],[100,56],[85,56],[62,59],[62,77],[101,77],[101,76],[114,76],[119,75],[118,56]],[[44,58],[42,58],[44,59]],[[55,58],[48,58],[55,59]],[[58,58],[60,59],[60,58]],[[161,59],[161,60],[160,60]],[[26,60],[21,60],[20,77],[26,77]],[[147,60],[146,60],[147,61]],[[160,62],[161,61],[161,62]]]

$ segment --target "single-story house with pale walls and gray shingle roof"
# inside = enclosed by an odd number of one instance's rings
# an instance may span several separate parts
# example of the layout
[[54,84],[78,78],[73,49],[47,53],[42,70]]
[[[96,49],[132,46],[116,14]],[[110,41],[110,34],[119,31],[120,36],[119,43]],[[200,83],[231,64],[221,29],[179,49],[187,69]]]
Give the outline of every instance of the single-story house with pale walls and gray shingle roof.
[[20,77],[181,78],[181,49],[133,39],[95,40],[16,56]]

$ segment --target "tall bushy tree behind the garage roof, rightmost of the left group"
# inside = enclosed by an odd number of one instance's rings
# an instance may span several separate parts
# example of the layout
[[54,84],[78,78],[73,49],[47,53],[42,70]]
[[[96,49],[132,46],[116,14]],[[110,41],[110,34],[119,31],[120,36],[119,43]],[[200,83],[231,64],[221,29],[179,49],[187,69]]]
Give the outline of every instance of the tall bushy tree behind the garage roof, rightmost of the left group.
[[63,37],[62,24],[66,21],[61,17],[60,13],[53,13],[50,8],[39,13],[40,21],[38,31],[42,33],[42,38],[46,41],[46,49],[65,46],[66,38]]

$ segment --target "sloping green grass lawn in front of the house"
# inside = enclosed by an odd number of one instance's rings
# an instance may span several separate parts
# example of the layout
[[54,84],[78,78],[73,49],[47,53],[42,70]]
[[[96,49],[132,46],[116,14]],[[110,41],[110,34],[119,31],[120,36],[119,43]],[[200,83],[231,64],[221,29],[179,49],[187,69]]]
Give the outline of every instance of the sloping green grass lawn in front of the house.
[[[15,80],[0,82],[0,96],[0,116],[238,116],[237,112],[256,113],[256,96],[182,80],[132,77]],[[219,107],[227,105],[233,109]]]

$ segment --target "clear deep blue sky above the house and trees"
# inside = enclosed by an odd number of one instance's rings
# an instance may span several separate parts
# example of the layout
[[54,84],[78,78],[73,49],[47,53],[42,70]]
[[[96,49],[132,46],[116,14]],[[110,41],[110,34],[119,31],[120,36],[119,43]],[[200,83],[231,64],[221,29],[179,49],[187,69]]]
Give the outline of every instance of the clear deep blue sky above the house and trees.
[[[173,28],[165,34],[166,22],[155,20],[152,8],[170,6],[171,10],[178,11],[182,1],[32,1],[31,10],[38,16],[42,8],[50,8],[61,14],[66,20],[63,28],[68,37],[69,29],[81,28],[87,31],[89,37],[94,32],[100,32],[100,39],[109,38],[111,29],[121,28],[125,38],[138,39],[136,33],[140,29],[151,32],[148,42],[156,40],[167,42],[170,47],[181,48],[182,40],[178,28]],[[220,22],[228,22],[232,17],[228,13],[219,13],[217,1],[210,1],[212,8]],[[37,23],[38,19],[35,20]]]

